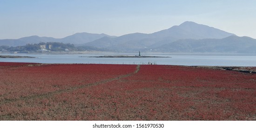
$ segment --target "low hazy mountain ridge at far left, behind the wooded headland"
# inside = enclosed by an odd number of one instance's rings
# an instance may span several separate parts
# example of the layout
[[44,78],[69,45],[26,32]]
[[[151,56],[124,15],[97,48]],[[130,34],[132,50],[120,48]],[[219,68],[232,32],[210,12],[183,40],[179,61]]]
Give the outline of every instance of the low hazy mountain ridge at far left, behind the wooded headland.
[[94,41],[96,39],[100,39],[102,37],[111,37],[114,38],[115,36],[109,36],[107,34],[94,34],[94,33],[75,33],[74,35],[67,36],[62,39],[55,39],[51,37],[39,37],[39,36],[30,36],[30,37],[23,37],[20,39],[0,39],[0,45],[8,45],[8,46],[20,46],[26,44],[34,44],[40,42],[63,42],[63,43],[71,43],[74,45],[83,44],[87,42]]

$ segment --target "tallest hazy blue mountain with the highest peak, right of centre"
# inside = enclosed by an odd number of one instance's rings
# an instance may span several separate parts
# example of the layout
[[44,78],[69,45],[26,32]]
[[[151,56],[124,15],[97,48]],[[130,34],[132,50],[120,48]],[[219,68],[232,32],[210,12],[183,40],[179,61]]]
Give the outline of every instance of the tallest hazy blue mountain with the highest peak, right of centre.
[[119,51],[138,51],[145,48],[155,48],[179,39],[221,39],[232,35],[235,34],[186,21],[179,26],[172,26],[159,32],[131,33],[116,38],[103,37],[84,45]]

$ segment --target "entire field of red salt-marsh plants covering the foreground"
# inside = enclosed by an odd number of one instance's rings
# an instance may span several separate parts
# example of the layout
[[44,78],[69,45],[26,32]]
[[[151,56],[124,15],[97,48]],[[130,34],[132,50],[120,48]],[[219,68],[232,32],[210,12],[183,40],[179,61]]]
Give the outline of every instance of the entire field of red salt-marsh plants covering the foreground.
[[0,62],[0,120],[256,120],[256,74]]

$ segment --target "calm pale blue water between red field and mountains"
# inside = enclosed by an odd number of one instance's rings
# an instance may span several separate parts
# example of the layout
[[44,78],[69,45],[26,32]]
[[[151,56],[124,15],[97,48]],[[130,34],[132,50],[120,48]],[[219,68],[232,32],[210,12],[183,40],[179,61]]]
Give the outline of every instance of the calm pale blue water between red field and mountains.
[[0,58],[0,62],[28,63],[77,63],[77,64],[157,64],[157,65],[213,65],[213,66],[256,66],[255,55],[238,54],[195,54],[195,53],[143,53],[147,56],[171,58],[93,58],[104,55],[138,55],[137,53],[0,53],[0,55],[31,56],[36,58]]

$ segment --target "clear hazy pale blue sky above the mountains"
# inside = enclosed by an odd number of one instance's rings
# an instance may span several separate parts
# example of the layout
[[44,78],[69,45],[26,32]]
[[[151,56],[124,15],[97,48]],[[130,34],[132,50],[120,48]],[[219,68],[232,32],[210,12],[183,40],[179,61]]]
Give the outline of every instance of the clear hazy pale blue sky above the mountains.
[[0,0],[0,39],[153,33],[184,21],[256,39],[256,0]]

